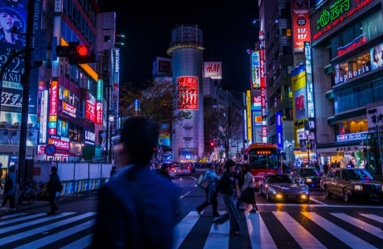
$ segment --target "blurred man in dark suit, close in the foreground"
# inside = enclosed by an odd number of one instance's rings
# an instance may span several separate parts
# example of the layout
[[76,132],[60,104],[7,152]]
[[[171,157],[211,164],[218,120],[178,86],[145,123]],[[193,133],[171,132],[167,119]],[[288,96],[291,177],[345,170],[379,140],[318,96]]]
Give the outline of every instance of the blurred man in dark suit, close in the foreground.
[[92,248],[172,248],[178,193],[150,172],[157,135],[158,126],[146,119],[124,122],[116,151],[124,166],[98,190]]

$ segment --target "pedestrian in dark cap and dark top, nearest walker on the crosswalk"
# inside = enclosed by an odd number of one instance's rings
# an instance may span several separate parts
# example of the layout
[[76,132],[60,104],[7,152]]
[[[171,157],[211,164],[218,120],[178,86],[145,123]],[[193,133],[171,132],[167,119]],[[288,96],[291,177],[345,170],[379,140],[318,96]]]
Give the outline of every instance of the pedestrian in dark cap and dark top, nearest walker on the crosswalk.
[[223,202],[225,203],[227,213],[220,216],[213,221],[214,227],[223,224],[230,220],[230,233],[229,235],[239,235],[239,215],[235,208],[235,195],[236,195],[236,180],[234,179],[235,162],[231,159],[226,161],[226,171],[223,173],[221,180],[219,180],[219,189],[222,193]]

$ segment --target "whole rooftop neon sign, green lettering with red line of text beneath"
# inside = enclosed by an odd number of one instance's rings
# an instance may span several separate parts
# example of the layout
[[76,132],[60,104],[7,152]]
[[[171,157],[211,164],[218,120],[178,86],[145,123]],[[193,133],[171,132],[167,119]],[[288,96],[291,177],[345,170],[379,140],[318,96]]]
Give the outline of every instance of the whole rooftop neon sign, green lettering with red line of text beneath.
[[[360,0],[355,0],[355,2],[357,3],[359,1]],[[316,33],[313,39],[318,39],[321,35],[329,31],[330,29],[336,27],[346,18],[352,16],[372,1],[373,0],[364,0],[355,7],[351,8],[352,3],[350,3],[350,0],[337,0],[334,4],[330,6],[330,11],[328,9],[324,9],[322,11],[320,18],[317,20],[317,30],[319,31],[322,28],[323,30]],[[346,11],[348,12],[345,13]],[[331,24],[329,24],[330,20],[333,21]]]

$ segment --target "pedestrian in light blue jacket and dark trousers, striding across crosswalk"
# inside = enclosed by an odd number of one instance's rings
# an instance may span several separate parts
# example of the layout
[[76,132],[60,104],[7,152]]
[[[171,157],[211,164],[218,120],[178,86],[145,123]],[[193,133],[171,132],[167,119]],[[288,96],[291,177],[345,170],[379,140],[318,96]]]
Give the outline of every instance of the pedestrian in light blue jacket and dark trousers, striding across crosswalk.
[[203,177],[203,181],[208,182],[209,185],[205,189],[206,192],[206,201],[204,201],[200,206],[197,207],[197,212],[201,215],[202,210],[211,204],[213,209],[213,217],[219,217],[218,209],[218,200],[217,200],[217,185],[218,180],[220,179],[215,173],[214,163],[208,163],[208,169]]

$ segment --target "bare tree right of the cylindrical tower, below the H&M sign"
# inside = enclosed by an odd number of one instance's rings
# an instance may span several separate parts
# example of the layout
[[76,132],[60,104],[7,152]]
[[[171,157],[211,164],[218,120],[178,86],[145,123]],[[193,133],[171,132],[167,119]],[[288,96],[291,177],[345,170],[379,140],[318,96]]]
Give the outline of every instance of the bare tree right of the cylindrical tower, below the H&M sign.
[[242,137],[242,119],[229,108],[225,111],[215,112],[212,120],[211,130],[219,143],[225,148],[227,159],[231,144],[236,143]]

